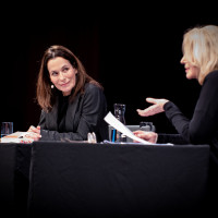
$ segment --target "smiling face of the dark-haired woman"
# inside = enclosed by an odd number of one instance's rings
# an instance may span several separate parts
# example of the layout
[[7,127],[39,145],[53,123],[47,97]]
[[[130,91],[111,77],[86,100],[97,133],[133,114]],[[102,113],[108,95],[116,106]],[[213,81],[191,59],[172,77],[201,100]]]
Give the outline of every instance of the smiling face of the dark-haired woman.
[[51,83],[62,92],[63,96],[71,94],[75,86],[77,70],[72,66],[69,60],[57,57],[47,63]]

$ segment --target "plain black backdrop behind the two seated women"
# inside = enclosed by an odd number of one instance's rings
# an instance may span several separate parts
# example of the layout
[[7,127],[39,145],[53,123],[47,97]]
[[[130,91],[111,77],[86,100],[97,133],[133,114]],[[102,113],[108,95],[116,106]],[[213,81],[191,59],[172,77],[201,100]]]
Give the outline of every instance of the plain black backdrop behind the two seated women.
[[211,11],[216,7],[179,4],[59,2],[55,9],[43,3],[2,8],[8,13],[1,15],[0,122],[13,121],[14,131],[37,125],[40,59],[56,44],[71,49],[102,84],[108,110],[113,112],[114,102],[126,105],[126,124],[150,121],[157,132],[174,133],[165,113],[142,118],[136,109],[148,106],[148,96],[168,98],[192,117],[201,87],[186,80],[180,64],[183,33],[195,25],[218,24]]

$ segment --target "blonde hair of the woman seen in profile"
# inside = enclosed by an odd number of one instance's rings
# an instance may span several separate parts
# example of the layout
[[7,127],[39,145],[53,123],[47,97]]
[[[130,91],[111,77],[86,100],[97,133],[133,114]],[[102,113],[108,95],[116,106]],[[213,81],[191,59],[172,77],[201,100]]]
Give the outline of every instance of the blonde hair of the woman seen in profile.
[[208,73],[218,70],[218,26],[187,29],[183,36],[182,51],[191,64],[199,68],[197,81],[202,85]]

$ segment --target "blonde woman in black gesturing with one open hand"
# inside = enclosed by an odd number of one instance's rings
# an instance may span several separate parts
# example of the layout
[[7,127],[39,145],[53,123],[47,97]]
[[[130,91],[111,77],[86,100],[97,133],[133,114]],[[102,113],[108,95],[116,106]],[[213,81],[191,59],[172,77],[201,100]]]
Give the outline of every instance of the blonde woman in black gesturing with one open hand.
[[[186,78],[196,78],[202,86],[199,98],[191,120],[170,100],[146,98],[153,104],[141,110],[140,116],[147,117],[166,113],[178,133],[190,144],[209,144],[209,197],[210,208],[217,208],[218,196],[218,26],[194,27],[184,34],[183,57]],[[135,132],[145,140],[157,141],[155,133]]]

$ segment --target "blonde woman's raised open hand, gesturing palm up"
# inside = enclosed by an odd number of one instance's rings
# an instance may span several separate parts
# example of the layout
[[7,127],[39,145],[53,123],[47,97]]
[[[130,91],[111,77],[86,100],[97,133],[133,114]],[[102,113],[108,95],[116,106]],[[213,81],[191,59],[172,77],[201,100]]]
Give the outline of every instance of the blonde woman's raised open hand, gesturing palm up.
[[137,113],[142,117],[148,117],[154,116],[156,113],[164,112],[164,105],[168,102],[167,99],[157,99],[157,98],[146,98],[147,102],[153,104],[153,106],[149,106],[148,108],[145,108],[144,110],[137,109]]

